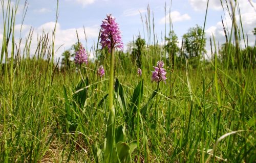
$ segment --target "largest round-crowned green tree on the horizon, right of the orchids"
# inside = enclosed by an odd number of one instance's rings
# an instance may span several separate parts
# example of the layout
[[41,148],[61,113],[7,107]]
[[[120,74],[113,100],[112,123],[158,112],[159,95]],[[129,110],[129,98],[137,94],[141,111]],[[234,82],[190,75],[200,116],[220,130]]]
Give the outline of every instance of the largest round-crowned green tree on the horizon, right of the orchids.
[[198,26],[198,25],[196,25],[196,27],[194,28],[190,28],[188,32],[183,35],[184,48],[188,53],[189,58],[198,57],[200,55],[200,48],[202,53],[206,53],[205,34],[203,38],[202,36],[203,36],[203,29],[201,26]]

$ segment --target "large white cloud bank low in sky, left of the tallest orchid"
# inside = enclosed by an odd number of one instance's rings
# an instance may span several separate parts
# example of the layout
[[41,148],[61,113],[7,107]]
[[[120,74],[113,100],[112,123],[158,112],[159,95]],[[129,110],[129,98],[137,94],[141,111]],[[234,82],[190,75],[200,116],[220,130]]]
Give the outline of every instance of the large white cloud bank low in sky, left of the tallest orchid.
[[[19,40],[19,31],[20,31],[20,24],[15,25],[16,37],[15,41],[18,43]],[[42,36],[43,31],[44,33],[49,33],[49,38],[52,39],[52,32],[55,26],[55,22],[47,22],[44,23],[33,30],[33,37],[30,45],[30,55],[33,56],[34,52],[37,48],[38,38]],[[22,43],[20,48],[23,51],[25,47],[25,38],[28,36],[30,30],[30,25],[24,24],[22,29]],[[56,24],[56,33],[55,33],[55,41],[54,41],[54,49],[55,49],[55,60],[61,57],[61,54],[64,50],[69,49],[74,43],[77,42],[77,35],[78,33],[79,41],[86,46],[86,37],[84,36],[84,32],[87,35],[89,40],[97,39],[99,34],[99,27],[98,26],[90,26],[83,28],[72,28],[72,29],[61,29],[61,25],[59,23]],[[2,36],[0,35],[0,38]],[[52,40],[51,40],[52,41]],[[52,42],[50,44],[52,45]],[[92,41],[93,42],[93,41]],[[90,46],[89,46],[90,47]],[[58,49],[58,51],[56,51]],[[88,49],[90,50],[90,49]],[[89,52],[88,52],[89,53]],[[92,52],[90,52],[92,53]],[[23,54],[22,54],[23,55]],[[92,56],[91,56],[92,57]]]

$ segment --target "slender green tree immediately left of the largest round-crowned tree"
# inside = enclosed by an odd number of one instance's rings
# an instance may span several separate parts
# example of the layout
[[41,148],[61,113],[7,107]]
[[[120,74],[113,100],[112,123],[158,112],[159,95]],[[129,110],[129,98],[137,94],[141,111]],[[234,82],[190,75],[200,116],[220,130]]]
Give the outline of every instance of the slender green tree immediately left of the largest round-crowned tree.
[[167,44],[164,46],[164,48],[168,53],[169,63],[172,64],[172,67],[174,67],[174,60],[179,51],[178,37],[174,31],[170,31],[169,37],[166,37],[165,40],[167,41]]

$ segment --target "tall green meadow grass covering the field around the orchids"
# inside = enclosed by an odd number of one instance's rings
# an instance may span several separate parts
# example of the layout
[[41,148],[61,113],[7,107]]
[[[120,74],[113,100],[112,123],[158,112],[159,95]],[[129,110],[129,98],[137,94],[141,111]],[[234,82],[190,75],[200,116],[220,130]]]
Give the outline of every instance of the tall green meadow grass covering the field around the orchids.
[[[25,49],[16,49],[17,5],[12,8],[8,1],[7,6],[0,66],[0,162],[102,162],[110,57],[106,56],[102,78],[96,76],[98,61],[60,70],[53,60],[54,29],[39,37],[37,51],[30,57],[32,31]],[[204,23],[206,18],[207,10]],[[148,41],[142,53],[142,76],[131,66],[130,54],[115,53],[115,124],[125,133],[119,138],[117,129],[116,139],[137,140],[131,161],[255,161],[255,70],[217,60],[212,38],[213,60],[198,59],[197,68],[186,59],[181,67],[166,64],[166,84],[159,83],[156,91],[151,71],[158,60],[168,59],[163,48],[150,46],[159,44],[150,8],[142,23]],[[238,29],[237,24],[233,28]],[[232,36],[229,39],[228,43]],[[242,41],[234,39],[240,46]],[[229,50],[227,55],[241,57]],[[139,102],[134,100],[137,96]]]

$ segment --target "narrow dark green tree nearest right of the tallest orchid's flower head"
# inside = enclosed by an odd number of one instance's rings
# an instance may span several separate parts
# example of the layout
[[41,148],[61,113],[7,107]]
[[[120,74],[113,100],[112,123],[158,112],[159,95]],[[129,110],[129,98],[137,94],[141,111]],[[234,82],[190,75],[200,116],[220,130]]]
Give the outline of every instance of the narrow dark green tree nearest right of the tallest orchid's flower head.
[[145,48],[145,44],[146,41],[138,36],[137,40],[135,41],[136,47],[134,47],[132,50],[133,60],[136,61],[138,67],[141,67],[141,56]]

